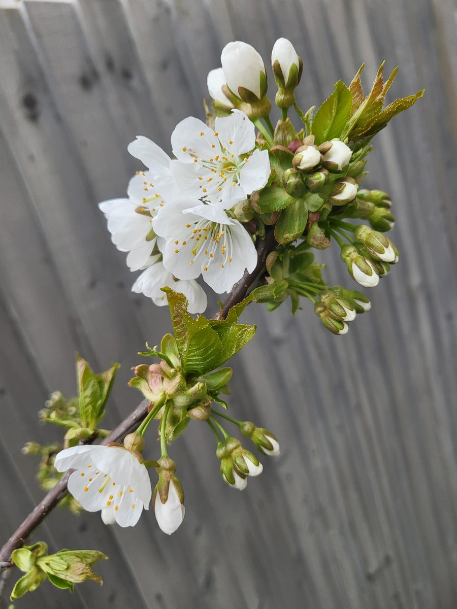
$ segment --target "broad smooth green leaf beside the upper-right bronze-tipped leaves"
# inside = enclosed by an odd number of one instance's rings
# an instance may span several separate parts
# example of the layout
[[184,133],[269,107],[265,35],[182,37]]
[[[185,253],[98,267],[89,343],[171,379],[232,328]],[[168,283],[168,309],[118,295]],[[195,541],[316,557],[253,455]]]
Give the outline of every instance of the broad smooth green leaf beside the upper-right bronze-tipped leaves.
[[321,105],[311,125],[314,143],[319,146],[332,138],[339,138],[347,124],[352,108],[352,93],[338,80],[335,90]]

